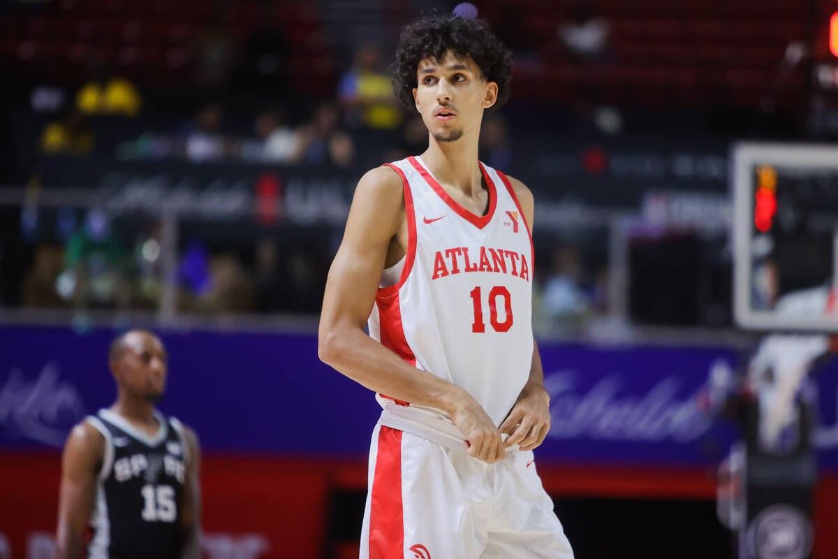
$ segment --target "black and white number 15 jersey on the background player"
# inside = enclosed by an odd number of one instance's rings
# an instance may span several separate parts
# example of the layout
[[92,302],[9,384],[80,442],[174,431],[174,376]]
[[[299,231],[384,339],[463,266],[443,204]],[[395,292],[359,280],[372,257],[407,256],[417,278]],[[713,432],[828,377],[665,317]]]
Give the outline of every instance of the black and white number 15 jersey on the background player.
[[154,435],[111,410],[86,418],[105,437],[89,559],[167,559],[182,546],[180,506],[189,449],[184,427],[154,411]]

